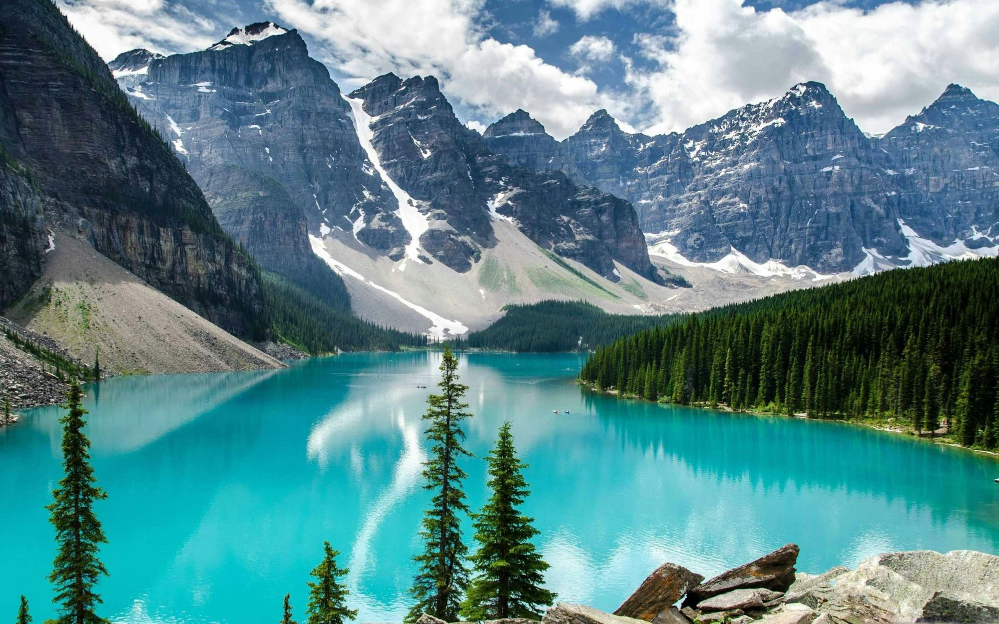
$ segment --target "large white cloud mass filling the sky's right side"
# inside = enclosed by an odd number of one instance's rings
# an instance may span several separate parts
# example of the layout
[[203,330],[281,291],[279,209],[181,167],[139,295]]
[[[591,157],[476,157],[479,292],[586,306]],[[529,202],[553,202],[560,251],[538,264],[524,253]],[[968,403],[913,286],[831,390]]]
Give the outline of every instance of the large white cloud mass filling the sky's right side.
[[870,11],[820,2],[757,11],[741,0],[675,0],[676,36],[639,35],[654,71],[627,81],[656,111],[651,131],[682,130],[797,82],[824,82],[867,132],[885,132],[950,82],[999,97],[999,2],[893,2]]

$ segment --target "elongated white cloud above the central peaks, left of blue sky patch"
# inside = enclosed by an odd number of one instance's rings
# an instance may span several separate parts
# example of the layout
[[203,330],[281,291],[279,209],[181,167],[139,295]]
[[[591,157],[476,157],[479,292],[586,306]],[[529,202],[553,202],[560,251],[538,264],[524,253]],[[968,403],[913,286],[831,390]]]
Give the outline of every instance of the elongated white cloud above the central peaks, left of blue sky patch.
[[280,21],[320,41],[313,54],[363,83],[386,72],[434,74],[450,98],[499,117],[530,111],[556,137],[605,106],[596,84],[545,63],[525,45],[486,37],[483,0],[268,0]]

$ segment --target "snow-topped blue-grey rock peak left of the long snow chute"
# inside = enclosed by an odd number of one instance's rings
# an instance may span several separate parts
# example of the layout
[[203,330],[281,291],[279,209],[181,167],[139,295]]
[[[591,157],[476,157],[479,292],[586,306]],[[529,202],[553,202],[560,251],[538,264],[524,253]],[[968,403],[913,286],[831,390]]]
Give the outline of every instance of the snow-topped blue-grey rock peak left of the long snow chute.
[[201,52],[143,52],[110,67],[149,59],[116,71],[119,85],[170,140],[226,232],[263,268],[314,292],[318,280],[349,308],[340,278],[316,261],[309,231],[351,229],[368,215],[377,227],[359,238],[390,254],[405,231],[366,167],[350,107],[299,34],[264,22]]

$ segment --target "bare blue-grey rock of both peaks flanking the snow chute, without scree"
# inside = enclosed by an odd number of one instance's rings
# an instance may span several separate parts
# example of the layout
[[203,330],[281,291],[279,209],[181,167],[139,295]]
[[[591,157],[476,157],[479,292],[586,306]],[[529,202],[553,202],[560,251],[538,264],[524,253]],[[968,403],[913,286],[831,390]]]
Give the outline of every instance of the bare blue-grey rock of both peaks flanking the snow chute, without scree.
[[[297,275],[287,273],[298,253],[287,244],[302,239],[296,222],[304,219],[314,236],[339,229],[394,261],[464,273],[496,245],[492,220],[515,218],[541,247],[608,279],[616,280],[615,260],[654,277],[627,202],[558,173],[509,167],[458,121],[433,77],[382,76],[347,98],[296,31],[270,22],[234,29],[201,52],[132,51],[111,66],[122,68],[122,88],[168,136],[213,209],[227,199],[248,208],[257,191],[273,196],[264,178],[283,187],[292,203],[252,218],[276,236],[244,240],[221,219],[268,270]],[[220,173],[225,167],[257,176],[245,176],[242,189],[219,185],[233,177]],[[292,247],[308,250],[304,241]],[[271,264],[278,257],[285,265]]]

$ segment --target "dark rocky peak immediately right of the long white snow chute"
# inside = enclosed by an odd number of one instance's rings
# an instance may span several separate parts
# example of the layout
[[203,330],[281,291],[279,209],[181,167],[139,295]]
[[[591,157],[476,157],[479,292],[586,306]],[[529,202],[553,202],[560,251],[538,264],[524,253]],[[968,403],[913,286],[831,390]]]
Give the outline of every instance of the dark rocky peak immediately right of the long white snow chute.
[[579,187],[560,172],[511,167],[458,120],[434,77],[403,81],[387,74],[351,98],[363,103],[356,120],[362,113],[373,118],[371,145],[413,202],[411,235],[432,258],[468,271],[479,250],[495,244],[492,221],[506,219],[540,247],[608,280],[617,280],[614,261],[654,278],[627,202]]

